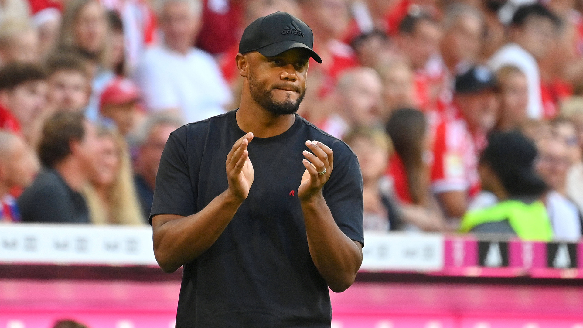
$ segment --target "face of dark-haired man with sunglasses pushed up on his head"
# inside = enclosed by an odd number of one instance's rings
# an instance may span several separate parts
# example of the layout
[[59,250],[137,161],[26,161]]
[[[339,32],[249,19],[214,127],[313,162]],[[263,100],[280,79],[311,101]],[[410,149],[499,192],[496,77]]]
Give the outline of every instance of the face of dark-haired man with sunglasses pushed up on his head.
[[424,68],[431,55],[438,53],[441,30],[427,20],[417,23],[415,32],[402,34],[401,48],[411,61],[413,68]]

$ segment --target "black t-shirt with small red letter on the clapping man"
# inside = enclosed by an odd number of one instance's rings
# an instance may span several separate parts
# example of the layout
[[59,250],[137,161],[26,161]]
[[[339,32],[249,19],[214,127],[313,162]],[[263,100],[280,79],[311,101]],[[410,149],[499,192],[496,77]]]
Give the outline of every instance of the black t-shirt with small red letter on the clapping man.
[[[152,215],[191,215],[228,187],[225,161],[243,137],[236,111],[174,131],[160,161]],[[326,203],[339,228],[363,243],[363,182],[352,150],[296,115],[280,135],[248,145],[255,179],[219,239],[184,265],[177,328],[330,327],[328,286],[308,251],[297,189],[305,141],[334,152]]]

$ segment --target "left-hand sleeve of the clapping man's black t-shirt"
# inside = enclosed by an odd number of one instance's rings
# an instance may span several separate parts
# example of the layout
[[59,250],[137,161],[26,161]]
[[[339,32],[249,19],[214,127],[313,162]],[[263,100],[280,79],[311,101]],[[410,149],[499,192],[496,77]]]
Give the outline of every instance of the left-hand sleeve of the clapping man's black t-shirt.
[[[184,217],[196,212],[196,192],[192,182],[184,127],[172,132],[160,159],[152,211],[148,219],[158,214],[176,214]],[[192,154],[191,157],[195,157]]]

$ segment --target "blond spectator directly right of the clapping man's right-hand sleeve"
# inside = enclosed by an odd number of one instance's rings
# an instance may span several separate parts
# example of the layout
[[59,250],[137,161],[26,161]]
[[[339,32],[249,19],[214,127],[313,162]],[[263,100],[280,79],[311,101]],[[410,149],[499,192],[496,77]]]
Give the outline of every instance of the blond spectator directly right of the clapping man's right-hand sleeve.
[[384,176],[391,139],[375,128],[354,128],[344,141],[359,159],[363,175],[364,230],[389,231],[401,228],[401,214]]

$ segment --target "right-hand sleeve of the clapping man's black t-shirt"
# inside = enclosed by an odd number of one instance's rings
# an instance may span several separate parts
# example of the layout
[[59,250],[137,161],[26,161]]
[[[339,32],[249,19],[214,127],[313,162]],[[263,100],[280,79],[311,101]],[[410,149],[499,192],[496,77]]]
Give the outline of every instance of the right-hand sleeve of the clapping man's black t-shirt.
[[324,199],[340,230],[364,245],[363,178],[356,155],[342,141],[331,146],[334,168],[324,186]]

